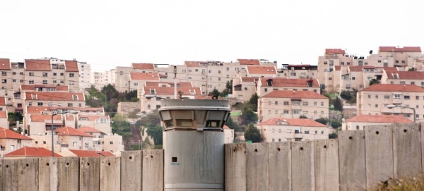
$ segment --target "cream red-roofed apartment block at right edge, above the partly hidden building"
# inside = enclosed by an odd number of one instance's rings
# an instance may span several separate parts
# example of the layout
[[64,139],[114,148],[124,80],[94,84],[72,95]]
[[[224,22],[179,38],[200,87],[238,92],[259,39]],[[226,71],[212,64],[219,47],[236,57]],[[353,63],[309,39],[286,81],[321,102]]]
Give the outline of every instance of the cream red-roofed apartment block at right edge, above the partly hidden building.
[[[424,89],[416,85],[374,84],[360,90],[356,99],[358,115],[404,116],[411,121],[424,121]],[[413,108],[416,116],[413,109],[388,109],[388,105]]]

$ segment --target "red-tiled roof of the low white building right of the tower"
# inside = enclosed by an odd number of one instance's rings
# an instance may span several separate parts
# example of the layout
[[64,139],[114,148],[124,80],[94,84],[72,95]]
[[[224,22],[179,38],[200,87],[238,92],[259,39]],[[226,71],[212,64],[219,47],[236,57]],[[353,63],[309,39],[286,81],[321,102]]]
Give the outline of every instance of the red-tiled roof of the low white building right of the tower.
[[278,125],[278,121],[281,123],[288,123],[291,126],[303,126],[303,127],[316,127],[316,128],[326,128],[326,125],[313,121],[310,118],[270,118],[267,121],[259,123],[258,125]]

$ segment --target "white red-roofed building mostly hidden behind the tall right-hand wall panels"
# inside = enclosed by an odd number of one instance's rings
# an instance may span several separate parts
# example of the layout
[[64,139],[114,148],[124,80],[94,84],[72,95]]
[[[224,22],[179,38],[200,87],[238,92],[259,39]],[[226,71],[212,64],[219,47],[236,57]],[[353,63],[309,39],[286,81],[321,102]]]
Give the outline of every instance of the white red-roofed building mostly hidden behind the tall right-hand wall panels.
[[364,130],[367,125],[391,125],[394,123],[413,123],[403,116],[360,115],[349,118],[341,124],[342,130]]

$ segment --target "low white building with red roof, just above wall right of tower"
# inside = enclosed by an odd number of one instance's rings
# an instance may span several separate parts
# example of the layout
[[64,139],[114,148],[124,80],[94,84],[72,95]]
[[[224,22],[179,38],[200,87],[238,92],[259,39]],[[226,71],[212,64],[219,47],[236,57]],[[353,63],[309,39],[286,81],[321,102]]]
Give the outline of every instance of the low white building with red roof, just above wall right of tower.
[[325,140],[329,128],[310,118],[269,118],[257,125],[263,142]]

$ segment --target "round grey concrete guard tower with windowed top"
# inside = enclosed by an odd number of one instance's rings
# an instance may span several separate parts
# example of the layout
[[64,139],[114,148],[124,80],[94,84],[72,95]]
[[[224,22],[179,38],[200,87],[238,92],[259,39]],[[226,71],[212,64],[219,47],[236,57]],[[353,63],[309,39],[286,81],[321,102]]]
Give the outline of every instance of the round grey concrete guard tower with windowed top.
[[224,190],[223,125],[230,116],[227,100],[165,99],[165,191]]

